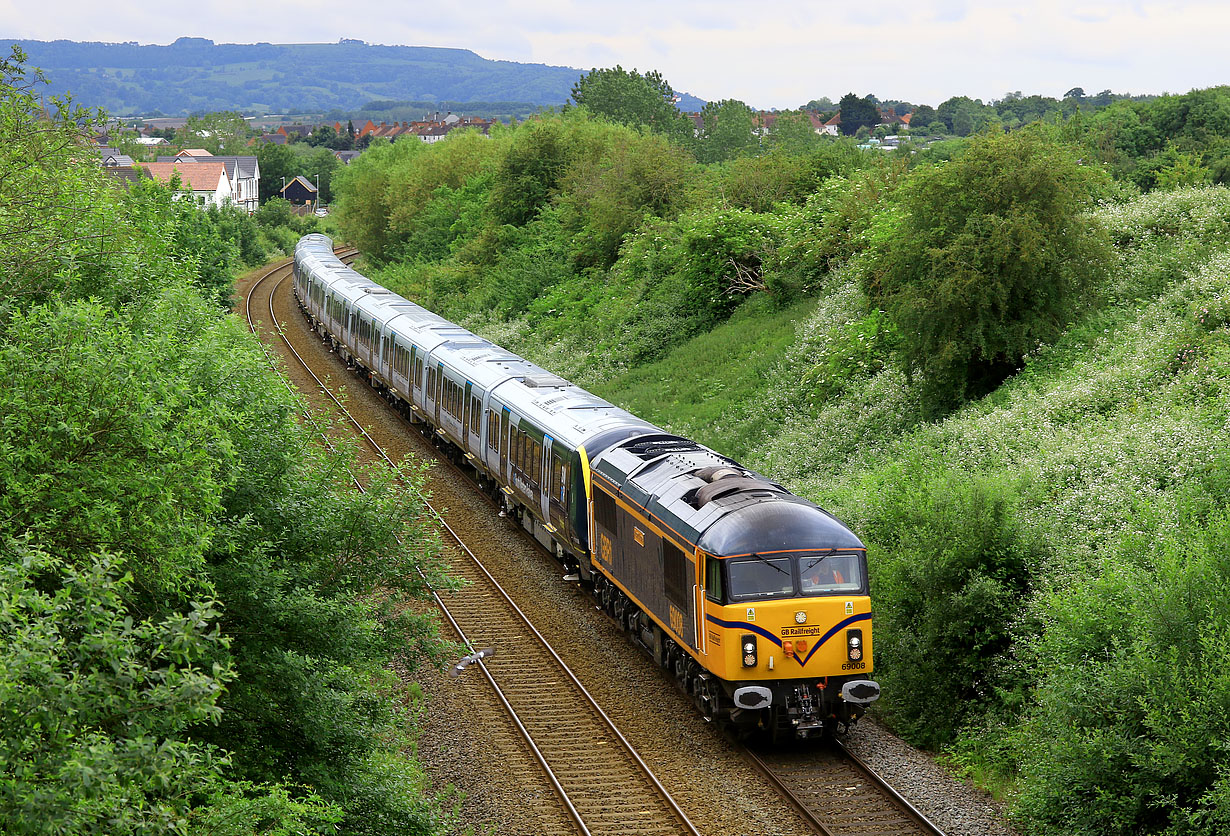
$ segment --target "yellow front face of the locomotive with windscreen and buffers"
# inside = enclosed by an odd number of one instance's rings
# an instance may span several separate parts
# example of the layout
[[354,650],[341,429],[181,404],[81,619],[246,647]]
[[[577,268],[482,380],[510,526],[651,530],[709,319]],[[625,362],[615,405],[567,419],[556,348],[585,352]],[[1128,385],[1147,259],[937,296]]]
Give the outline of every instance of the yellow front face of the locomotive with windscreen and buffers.
[[705,642],[731,720],[807,736],[879,696],[862,550],[706,557]]

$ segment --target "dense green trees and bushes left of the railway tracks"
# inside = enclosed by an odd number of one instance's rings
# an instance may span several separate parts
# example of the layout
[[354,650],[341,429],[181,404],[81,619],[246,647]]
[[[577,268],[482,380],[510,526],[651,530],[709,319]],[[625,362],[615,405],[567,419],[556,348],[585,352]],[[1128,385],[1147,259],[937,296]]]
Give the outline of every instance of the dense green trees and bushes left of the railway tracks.
[[34,92],[0,60],[0,831],[444,831],[392,672],[445,650],[430,526],[226,306],[280,227],[114,183]]

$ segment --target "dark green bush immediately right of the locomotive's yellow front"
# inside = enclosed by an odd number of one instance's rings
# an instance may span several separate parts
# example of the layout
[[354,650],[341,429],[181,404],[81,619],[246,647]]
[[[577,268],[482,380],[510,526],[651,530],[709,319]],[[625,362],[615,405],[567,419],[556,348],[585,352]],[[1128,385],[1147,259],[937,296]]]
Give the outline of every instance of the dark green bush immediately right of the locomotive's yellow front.
[[1007,479],[910,459],[862,491],[876,502],[861,534],[884,708],[902,736],[938,749],[1022,686],[1012,681],[1012,628],[1042,551],[1018,522]]

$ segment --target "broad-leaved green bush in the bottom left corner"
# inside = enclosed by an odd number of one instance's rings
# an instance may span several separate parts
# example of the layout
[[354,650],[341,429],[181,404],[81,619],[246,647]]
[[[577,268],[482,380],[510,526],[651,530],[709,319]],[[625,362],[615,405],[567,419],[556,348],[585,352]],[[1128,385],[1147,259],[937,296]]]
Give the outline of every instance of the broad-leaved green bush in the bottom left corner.
[[0,827],[10,834],[186,832],[220,752],[186,739],[230,677],[202,602],[134,620],[106,554],[74,566],[7,540],[0,567]]

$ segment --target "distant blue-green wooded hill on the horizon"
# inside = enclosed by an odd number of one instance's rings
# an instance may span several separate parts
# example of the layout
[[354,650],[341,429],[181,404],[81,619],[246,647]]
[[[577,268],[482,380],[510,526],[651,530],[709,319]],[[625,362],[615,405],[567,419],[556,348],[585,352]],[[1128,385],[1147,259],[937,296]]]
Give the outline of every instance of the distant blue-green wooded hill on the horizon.
[[[354,111],[373,100],[562,104],[583,70],[482,58],[469,49],[339,43],[170,45],[10,41],[76,102],[113,116],[208,111]],[[7,52],[7,43],[0,47]],[[680,107],[704,102],[685,96]]]

